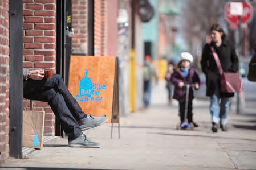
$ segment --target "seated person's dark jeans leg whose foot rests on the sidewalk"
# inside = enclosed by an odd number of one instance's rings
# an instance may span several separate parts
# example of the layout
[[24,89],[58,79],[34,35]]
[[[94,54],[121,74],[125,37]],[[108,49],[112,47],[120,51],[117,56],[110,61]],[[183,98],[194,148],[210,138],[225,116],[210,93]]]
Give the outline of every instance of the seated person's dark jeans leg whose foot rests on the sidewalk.
[[43,87],[45,81],[26,81],[23,86],[24,98],[48,102],[52,111],[54,111],[56,119],[60,121],[64,132],[68,135],[68,140],[75,139],[77,136],[83,134],[78,122],[68,109],[63,96],[54,89],[45,89]]

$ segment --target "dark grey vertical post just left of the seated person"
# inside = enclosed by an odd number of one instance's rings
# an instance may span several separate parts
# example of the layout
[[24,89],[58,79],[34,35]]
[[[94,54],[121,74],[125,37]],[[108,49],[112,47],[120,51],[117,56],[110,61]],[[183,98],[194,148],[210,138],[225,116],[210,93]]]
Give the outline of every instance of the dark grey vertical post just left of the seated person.
[[22,158],[23,2],[9,1],[10,96],[9,155]]

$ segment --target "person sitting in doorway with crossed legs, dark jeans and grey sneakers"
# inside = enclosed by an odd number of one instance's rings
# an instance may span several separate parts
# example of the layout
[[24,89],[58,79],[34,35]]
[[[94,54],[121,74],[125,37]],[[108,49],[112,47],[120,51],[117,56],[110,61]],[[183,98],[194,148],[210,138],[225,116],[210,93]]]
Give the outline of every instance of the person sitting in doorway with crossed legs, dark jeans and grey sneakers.
[[83,134],[84,130],[102,125],[108,120],[106,115],[88,115],[79,106],[59,74],[51,79],[44,76],[43,69],[23,68],[23,97],[47,102],[68,136],[69,147],[101,147]]

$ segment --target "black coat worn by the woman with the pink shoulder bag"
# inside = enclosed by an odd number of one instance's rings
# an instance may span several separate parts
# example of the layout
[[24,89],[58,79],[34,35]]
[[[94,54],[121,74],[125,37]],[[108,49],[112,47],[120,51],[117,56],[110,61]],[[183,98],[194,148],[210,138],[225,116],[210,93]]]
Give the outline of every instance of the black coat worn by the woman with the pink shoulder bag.
[[[216,43],[211,42],[206,44],[202,51],[201,67],[206,75],[206,96],[213,96],[216,85],[220,85],[220,72],[214,60],[213,53],[210,49],[213,45],[221,62],[221,67],[224,72],[238,71],[238,57],[235,53],[233,45],[228,40],[223,40],[220,47]],[[220,97],[233,97],[234,93],[221,93]]]

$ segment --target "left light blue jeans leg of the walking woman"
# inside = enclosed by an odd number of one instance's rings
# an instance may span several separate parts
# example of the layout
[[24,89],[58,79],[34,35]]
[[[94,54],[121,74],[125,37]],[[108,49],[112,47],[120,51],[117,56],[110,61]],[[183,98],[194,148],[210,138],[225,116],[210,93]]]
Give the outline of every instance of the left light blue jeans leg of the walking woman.
[[210,114],[212,115],[212,122],[218,124],[219,118],[219,100],[220,100],[220,88],[216,86],[213,96],[210,98]]

